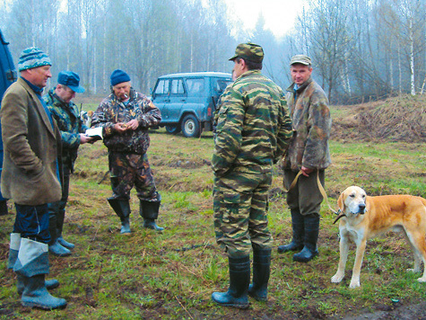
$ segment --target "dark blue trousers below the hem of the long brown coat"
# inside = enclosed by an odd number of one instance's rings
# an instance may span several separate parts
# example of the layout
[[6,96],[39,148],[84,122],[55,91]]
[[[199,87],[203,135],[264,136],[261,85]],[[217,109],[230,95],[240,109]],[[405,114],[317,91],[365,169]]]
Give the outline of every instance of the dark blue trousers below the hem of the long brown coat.
[[48,244],[48,204],[27,206],[15,203],[16,218],[13,233],[21,234],[22,238]]

